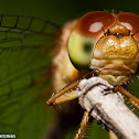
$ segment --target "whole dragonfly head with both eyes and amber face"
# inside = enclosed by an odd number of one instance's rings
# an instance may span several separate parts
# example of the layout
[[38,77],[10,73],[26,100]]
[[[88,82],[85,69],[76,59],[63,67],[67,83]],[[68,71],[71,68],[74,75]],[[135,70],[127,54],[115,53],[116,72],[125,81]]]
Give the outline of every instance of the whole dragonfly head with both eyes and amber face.
[[98,70],[113,85],[129,81],[138,67],[139,17],[133,13],[90,12],[78,20],[71,35],[68,53],[75,67]]

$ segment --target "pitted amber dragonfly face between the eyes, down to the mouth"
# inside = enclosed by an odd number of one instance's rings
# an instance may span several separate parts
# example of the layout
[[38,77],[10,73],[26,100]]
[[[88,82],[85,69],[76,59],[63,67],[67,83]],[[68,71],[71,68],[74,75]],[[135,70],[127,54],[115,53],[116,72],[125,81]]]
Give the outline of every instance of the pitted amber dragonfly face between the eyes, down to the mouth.
[[116,24],[97,41],[90,68],[99,70],[99,76],[113,85],[124,84],[137,72],[138,54],[136,39],[126,26]]

